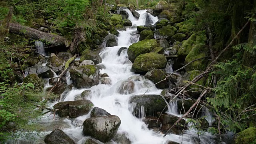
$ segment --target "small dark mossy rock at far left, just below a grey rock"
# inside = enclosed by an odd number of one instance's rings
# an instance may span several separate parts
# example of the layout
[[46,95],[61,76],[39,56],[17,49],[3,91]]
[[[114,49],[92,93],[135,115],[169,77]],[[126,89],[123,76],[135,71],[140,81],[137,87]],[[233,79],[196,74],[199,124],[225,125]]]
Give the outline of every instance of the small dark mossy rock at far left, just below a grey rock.
[[32,83],[36,88],[44,88],[44,82],[36,74],[26,76],[23,83]]

